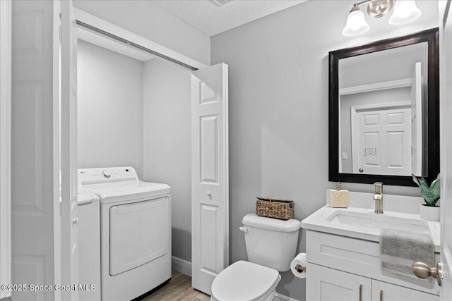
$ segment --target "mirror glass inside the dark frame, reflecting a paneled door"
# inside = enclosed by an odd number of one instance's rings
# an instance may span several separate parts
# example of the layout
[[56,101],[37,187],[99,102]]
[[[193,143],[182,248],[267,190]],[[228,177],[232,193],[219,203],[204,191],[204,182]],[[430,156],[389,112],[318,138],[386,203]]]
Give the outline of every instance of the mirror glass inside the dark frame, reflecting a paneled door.
[[[427,121],[427,64],[427,43],[340,59],[340,173],[422,176],[427,166],[423,145],[427,130],[423,124]],[[379,111],[400,108],[401,103],[410,109],[408,115],[386,111],[388,116],[381,116]],[[352,108],[355,113],[373,112],[357,121]]]

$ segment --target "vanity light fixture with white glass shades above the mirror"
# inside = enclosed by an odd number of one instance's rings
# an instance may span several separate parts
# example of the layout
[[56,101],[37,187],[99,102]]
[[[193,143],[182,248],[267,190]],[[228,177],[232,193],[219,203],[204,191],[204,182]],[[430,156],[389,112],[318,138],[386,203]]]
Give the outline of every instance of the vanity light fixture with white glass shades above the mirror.
[[369,30],[369,24],[367,24],[361,8],[359,8],[362,4],[367,4],[367,14],[372,18],[385,16],[394,6],[394,12],[389,18],[391,25],[410,23],[421,16],[421,11],[417,8],[415,0],[398,0],[395,2],[394,5],[394,0],[367,0],[353,4],[342,34],[350,37],[361,35]]

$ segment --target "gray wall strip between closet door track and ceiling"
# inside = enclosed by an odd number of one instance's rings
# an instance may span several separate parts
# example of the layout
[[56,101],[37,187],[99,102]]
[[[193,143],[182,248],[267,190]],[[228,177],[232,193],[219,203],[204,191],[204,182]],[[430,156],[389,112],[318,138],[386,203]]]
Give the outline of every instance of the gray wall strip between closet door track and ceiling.
[[74,0],[73,6],[210,65],[210,37],[153,1]]

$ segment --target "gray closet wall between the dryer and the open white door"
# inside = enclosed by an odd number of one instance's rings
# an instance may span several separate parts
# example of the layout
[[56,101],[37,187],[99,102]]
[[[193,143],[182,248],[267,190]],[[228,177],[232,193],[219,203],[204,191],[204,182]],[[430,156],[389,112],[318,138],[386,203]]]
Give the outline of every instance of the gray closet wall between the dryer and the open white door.
[[190,72],[168,61],[143,70],[143,180],[172,188],[172,254],[191,262]]

